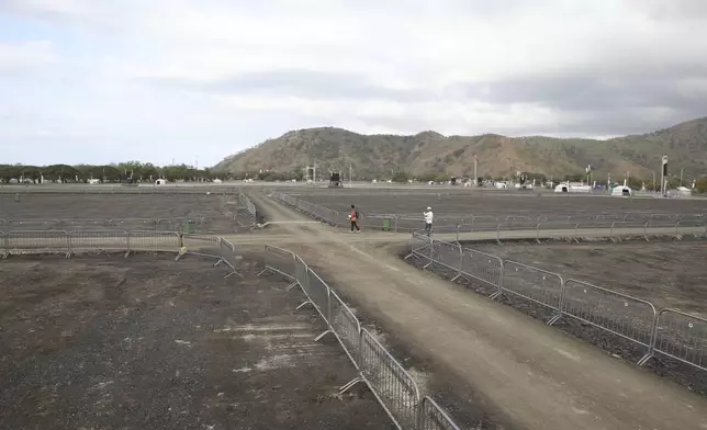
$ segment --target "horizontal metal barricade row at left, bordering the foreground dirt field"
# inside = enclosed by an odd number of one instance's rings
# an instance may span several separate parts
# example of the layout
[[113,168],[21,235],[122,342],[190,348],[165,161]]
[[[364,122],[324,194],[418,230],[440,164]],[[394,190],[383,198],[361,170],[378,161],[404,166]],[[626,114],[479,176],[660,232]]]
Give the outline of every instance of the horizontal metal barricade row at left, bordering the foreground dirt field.
[[125,252],[126,257],[135,251],[177,252],[177,258],[191,253],[216,258],[216,264],[223,262],[233,270],[231,274],[237,273],[236,247],[215,236],[136,230],[0,231],[2,258],[23,252],[60,252],[69,257],[75,252],[90,251]]

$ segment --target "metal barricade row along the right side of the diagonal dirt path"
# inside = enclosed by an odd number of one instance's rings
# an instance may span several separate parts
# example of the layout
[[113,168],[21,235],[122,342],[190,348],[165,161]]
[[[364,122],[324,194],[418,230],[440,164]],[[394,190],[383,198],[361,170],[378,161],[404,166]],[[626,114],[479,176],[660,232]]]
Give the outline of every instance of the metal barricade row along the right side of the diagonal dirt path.
[[512,295],[550,310],[549,325],[574,318],[646,349],[638,364],[665,355],[707,371],[707,319],[588,282],[564,279],[516,261],[414,233],[409,257],[437,267],[453,281],[465,279],[489,287],[491,297]]

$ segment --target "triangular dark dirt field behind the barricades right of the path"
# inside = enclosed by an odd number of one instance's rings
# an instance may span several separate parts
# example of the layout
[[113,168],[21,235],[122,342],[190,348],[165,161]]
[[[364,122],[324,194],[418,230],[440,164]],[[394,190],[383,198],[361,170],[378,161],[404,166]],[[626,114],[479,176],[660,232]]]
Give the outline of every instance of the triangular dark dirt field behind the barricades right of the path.
[[530,264],[672,307],[707,316],[707,242],[467,244]]

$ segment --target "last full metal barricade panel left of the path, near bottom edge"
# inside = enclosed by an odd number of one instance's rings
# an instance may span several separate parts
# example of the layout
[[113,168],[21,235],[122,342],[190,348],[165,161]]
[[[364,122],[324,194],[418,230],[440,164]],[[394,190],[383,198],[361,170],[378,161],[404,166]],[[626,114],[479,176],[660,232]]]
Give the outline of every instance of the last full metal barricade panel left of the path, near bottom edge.
[[400,428],[414,428],[419,391],[413,377],[366,329],[361,329],[361,375]]

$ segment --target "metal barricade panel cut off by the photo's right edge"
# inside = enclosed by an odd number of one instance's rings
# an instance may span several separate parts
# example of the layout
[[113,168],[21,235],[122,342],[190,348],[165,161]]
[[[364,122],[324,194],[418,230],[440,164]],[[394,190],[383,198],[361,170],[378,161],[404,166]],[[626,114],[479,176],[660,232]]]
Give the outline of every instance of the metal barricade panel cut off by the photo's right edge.
[[655,321],[653,353],[707,371],[707,319],[676,309],[661,310]]

